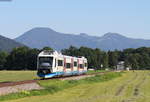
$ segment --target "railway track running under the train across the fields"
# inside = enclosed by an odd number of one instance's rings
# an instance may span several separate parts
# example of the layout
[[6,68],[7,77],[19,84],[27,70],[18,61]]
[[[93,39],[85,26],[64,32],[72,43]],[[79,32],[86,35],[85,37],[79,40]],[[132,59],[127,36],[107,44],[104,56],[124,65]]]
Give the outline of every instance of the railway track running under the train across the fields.
[[16,86],[16,85],[22,85],[22,84],[28,84],[28,83],[36,83],[39,80],[53,80],[53,79],[60,79],[60,80],[76,80],[78,77],[81,79],[82,77],[91,77],[98,74],[105,74],[111,71],[107,72],[95,72],[90,74],[83,74],[83,75],[74,75],[74,76],[62,76],[62,77],[54,77],[54,78],[48,78],[48,79],[35,79],[35,80],[25,80],[25,81],[16,81],[16,82],[0,82],[0,88],[1,87],[8,87],[8,86]]

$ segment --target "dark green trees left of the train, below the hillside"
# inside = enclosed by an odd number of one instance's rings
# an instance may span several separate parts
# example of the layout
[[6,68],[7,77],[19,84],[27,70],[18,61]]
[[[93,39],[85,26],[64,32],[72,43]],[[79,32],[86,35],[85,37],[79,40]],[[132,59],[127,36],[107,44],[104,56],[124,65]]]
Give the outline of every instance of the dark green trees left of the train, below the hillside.
[[10,53],[0,52],[0,70],[36,70],[37,56],[42,50],[53,50],[49,47],[43,49],[30,49],[28,47],[14,48]]

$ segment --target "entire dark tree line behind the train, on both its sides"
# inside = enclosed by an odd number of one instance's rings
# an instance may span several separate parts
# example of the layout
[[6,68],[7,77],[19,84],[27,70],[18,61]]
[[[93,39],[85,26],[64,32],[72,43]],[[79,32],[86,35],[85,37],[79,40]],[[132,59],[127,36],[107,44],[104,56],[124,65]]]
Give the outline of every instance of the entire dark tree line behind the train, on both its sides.
[[[0,70],[36,70],[37,55],[42,50],[53,50],[49,47],[31,49],[28,47],[14,48],[10,53],[0,52]],[[102,51],[98,48],[76,48],[70,46],[63,49],[62,54],[85,56],[88,67],[95,69],[116,69],[118,62],[124,61],[126,67],[132,69],[150,69],[150,48],[125,49],[123,51]]]

